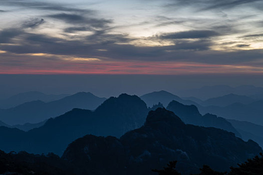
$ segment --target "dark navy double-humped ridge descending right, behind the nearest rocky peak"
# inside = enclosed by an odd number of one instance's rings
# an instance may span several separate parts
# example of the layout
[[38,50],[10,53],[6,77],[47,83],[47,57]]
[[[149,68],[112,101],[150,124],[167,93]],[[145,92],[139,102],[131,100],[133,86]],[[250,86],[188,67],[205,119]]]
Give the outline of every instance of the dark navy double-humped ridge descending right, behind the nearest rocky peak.
[[238,131],[226,119],[217,117],[216,115],[210,113],[201,115],[195,105],[184,105],[173,100],[166,108],[174,112],[185,123],[206,127],[216,127],[233,132],[236,136],[241,136],[240,133],[238,133]]

